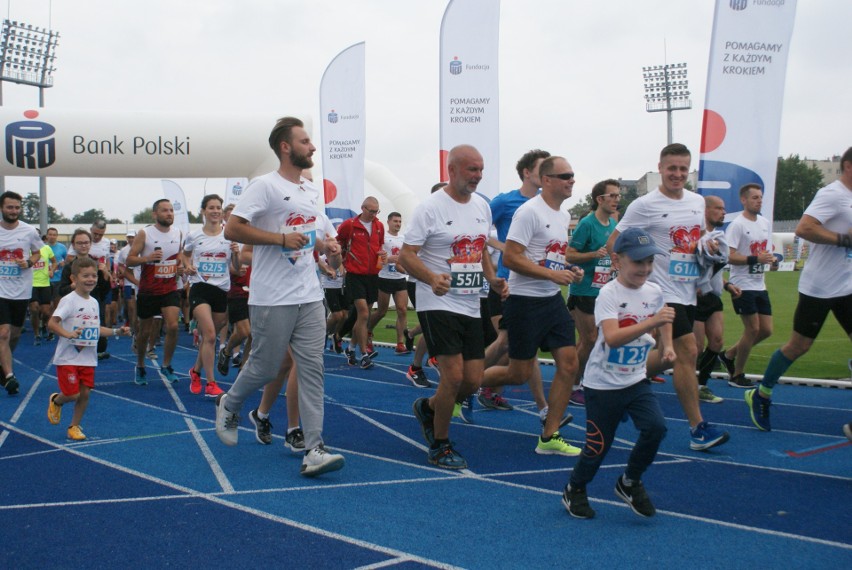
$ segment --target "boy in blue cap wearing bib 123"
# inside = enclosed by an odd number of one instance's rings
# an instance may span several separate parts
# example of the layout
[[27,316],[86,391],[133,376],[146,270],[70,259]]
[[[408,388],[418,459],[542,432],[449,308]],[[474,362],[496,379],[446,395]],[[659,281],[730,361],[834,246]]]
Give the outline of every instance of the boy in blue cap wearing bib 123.
[[[628,228],[613,246],[618,277],[607,283],[595,303],[598,338],[586,364],[583,381],[586,397],[586,444],[565,486],[562,504],[571,516],[590,519],[586,485],[592,481],[612,446],[615,431],[629,416],[639,439],[619,476],[615,494],[633,512],[644,517],[656,513],[641,476],[653,463],[666,423],[657,397],[646,379],[649,358],[675,359],[671,323],[675,310],[666,306],[662,290],[647,281],[654,256],[665,252],[640,228]],[[660,329],[658,351],[651,351],[649,333]]]

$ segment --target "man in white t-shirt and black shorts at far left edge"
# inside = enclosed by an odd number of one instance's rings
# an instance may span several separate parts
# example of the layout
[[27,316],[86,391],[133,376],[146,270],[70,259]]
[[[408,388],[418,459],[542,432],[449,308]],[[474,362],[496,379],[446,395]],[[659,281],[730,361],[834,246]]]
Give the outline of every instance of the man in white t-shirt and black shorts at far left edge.
[[33,265],[44,246],[38,231],[18,219],[20,194],[0,194],[0,385],[13,396],[19,382],[13,372],[12,352],[21,338],[33,288]]

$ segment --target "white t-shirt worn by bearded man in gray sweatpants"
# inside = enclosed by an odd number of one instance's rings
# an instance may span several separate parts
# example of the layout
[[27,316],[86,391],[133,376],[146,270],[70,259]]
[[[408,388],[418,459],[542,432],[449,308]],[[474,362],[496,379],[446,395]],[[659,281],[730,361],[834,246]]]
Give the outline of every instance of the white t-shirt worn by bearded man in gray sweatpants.
[[326,223],[320,204],[319,191],[309,180],[293,184],[277,171],[255,178],[246,187],[232,215],[268,232],[300,232],[310,238],[300,249],[254,246],[249,305],[272,307],[322,301],[314,247],[317,240],[336,237],[336,233]]

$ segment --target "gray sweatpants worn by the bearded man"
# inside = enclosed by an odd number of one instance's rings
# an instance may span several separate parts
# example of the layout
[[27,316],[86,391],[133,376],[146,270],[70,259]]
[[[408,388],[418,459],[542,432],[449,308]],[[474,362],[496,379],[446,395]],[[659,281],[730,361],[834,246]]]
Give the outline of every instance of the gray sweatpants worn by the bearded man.
[[228,390],[225,408],[239,413],[243,402],[278,374],[289,346],[298,367],[305,449],[313,449],[322,444],[325,307],[322,301],[275,307],[249,305],[249,316],[251,355]]

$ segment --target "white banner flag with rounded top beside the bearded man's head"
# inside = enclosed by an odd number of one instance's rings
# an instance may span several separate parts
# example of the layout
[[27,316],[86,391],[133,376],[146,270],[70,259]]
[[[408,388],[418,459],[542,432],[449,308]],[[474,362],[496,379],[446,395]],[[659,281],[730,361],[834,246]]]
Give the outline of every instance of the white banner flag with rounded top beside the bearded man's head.
[[335,226],[361,211],[366,137],[364,42],[335,57],[320,84],[325,212]]

